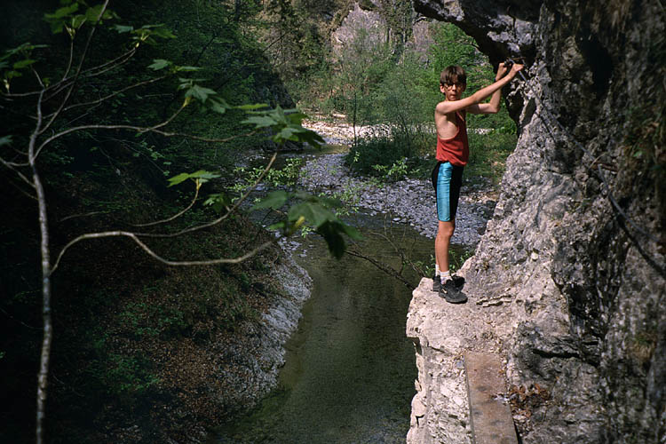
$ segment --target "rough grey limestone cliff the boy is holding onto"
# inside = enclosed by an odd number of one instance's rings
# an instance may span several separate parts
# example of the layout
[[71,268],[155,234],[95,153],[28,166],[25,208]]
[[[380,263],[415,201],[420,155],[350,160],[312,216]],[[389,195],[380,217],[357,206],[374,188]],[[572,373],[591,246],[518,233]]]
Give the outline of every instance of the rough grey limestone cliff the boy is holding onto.
[[[468,304],[483,313],[488,344],[507,359],[522,439],[666,442],[662,3],[415,5],[463,28],[492,61],[522,56],[527,64],[527,82],[505,91],[518,147],[494,217],[464,267]],[[416,316],[413,304],[408,334],[422,361],[437,361],[418,324],[428,315],[421,307]],[[450,308],[435,306],[432,315],[442,310]],[[480,346],[459,337],[447,365],[456,369],[456,355]],[[437,407],[425,396],[437,392],[424,386],[436,379],[430,373],[417,384],[420,417],[450,419],[446,402]],[[416,419],[410,440],[433,440],[434,423]],[[449,425],[464,434],[464,418],[456,421]]]

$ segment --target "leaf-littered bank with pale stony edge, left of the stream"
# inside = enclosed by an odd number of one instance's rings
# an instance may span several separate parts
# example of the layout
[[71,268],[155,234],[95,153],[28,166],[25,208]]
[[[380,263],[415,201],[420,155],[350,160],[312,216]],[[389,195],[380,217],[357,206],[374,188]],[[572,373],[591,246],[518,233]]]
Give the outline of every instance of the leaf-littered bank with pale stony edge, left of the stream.
[[215,293],[224,299],[226,291],[238,291],[252,305],[253,314],[234,325],[211,317],[205,321],[206,331],[169,341],[143,337],[137,346],[143,347],[146,360],[155,362],[155,388],[131,408],[109,405],[90,433],[95,441],[208,442],[211,427],[253,408],[274,389],[285,364],[285,343],[297,329],[312,280],[277,247],[253,262],[262,264],[261,272],[244,268],[239,274],[249,284],[240,289],[232,288],[233,282],[206,280],[214,288],[209,305]]

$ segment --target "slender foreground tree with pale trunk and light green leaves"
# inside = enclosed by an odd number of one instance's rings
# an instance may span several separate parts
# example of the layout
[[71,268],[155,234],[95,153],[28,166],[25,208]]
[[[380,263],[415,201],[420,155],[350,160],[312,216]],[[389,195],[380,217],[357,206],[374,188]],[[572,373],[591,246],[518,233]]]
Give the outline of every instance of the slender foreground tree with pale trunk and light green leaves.
[[[301,126],[305,115],[296,110],[284,110],[281,107],[266,109],[266,105],[263,104],[240,107],[229,105],[216,91],[205,86],[204,81],[197,77],[199,67],[179,66],[168,59],[154,59],[145,67],[136,65],[136,56],[144,46],[148,44],[159,46],[161,42],[173,39],[175,36],[162,25],[145,25],[135,28],[118,24],[119,17],[107,7],[108,3],[107,0],[102,4],[90,6],[83,0],[61,0],[61,7],[58,10],[44,16],[44,20],[50,24],[53,34],[65,35],[68,38],[69,50],[62,66],[44,66],[39,63],[40,57],[44,55],[45,51],[48,51],[44,44],[24,43],[0,55],[0,78],[4,90],[0,93],[0,100],[2,100],[3,108],[7,109],[11,106],[27,109],[30,113],[26,116],[21,115],[24,124],[20,129],[7,128],[4,129],[7,132],[0,135],[0,164],[13,176],[10,184],[17,187],[26,196],[27,202],[36,205],[38,209],[43,319],[43,341],[36,400],[36,441],[38,443],[45,440],[44,419],[53,340],[52,274],[58,270],[67,250],[75,244],[91,239],[124,237],[131,239],[141,250],[165,265],[197,266],[242,262],[277,242],[281,237],[293,234],[302,226],[309,226],[313,231],[321,234],[328,242],[331,253],[338,258],[345,250],[344,235],[352,238],[358,237],[358,233],[352,227],[346,226],[335,215],[332,207],[336,202],[303,193],[280,191],[269,194],[263,202],[255,205],[257,209],[280,209],[285,205],[291,205],[283,213],[281,221],[274,225],[274,229],[279,230],[280,235],[252,250],[244,251],[234,258],[173,260],[163,258],[150,247],[151,239],[169,239],[193,234],[207,227],[218,225],[233,215],[264,178],[267,171],[272,168],[277,155],[276,151],[252,186],[244,191],[235,202],[232,203],[223,193],[208,196],[204,204],[210,206],[217,214],[211,213],[210,220],[205,223],[186,226],[176,232],[146,231],[148,226],[165,227],[183,217],[199,200],[202,186],[219,177],[218,173],[209,170],[184,172],[169,179],[170,186],[184,182],[193,184],[194,196],[184,209],[160,220],[135,225],[135,230],[112,229],[81,234],[70,239],[61,249],[54,251],[50,241],[53,227],[49,224],[49,193],[47,187],[44,186],[42,168],[44,157],[48,155],[57,157],[59,155],[58,144],[69,135],[125,131],[137,135],[156,134],[166,139],[184,138],[216,144],[224,144],[236,137],[202,137],[170,130],[170,125],[179,115],[182,118],[186,109],[199,107],[204,113],[220,116],[225,115],[231,109],[247,113],[244,123],[249,125],[248,132],[270,131],[271,139],[278,149],[287,141],[304,142],[313,146],[318,146],[322,142],[319,135]],[[124,36],[124,43],[117,48],[118,51],[114,55],[99,63],[91,63],[91,52],[94,51],[94,45],[97,44],[94,36],[101,30]],[[131,64],[135,64],[133,68],[137,71],[147,73],[143,79],[132,79],[131,82],[110,89],[105,87],[109,83],[109,79],[117,74],[119,67],[127,67]],[[115,79],[114,85],[118,84],[117,80]],[[150,124],[131,123],[126,119],[117,123],[95,123],[90,120],[89,111],[92,108],[109,103],[122,103],[123,100],[127,104],[131,101],[131,94],[139,94],[143,88],[154,87],[161,83],[175,83],[178,93],[178,106],[163,119]],[[72,217],[76,216],[82,215],[72,215]]]

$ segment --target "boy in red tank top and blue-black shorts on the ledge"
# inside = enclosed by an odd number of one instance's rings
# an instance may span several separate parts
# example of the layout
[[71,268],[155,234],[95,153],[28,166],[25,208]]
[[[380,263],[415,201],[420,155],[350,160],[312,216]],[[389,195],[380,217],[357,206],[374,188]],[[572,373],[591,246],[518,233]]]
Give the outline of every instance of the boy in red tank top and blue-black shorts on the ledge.
[[[466,113],[495,114],[499,111],[502,87],[522,69],[513,64],[507,69],[503,63],[497,68],[496,82],[461,99],[467,84],[467,75],[462,67],[446,67],[440,75],[440,91],[445,99],[435,107],[437,128],[437,165],[432,170],[432,186],[437,197],[439,226],[435,238],[435,275],[432,290],[437,291],[451,304],[462,304],[467,297],[461,291],[464,279],[451,276],[448,270],[448,245],[456,228],[456,210],[463,169],[469,157],[467,145]],[[508,72],[508,74],[507,74]],[[506,74],[506,75],[505,75]],[[489,103],[480,103],[490,97]]]

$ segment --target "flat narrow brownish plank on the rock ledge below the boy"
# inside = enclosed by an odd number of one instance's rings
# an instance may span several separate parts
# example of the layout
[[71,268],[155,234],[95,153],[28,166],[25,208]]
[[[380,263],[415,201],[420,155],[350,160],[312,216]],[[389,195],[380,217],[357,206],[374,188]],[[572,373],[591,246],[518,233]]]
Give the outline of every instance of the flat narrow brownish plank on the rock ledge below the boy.
[[466,353],[467,394],[474,444],[518,444],[506,392],[502,363],[496,355]]

